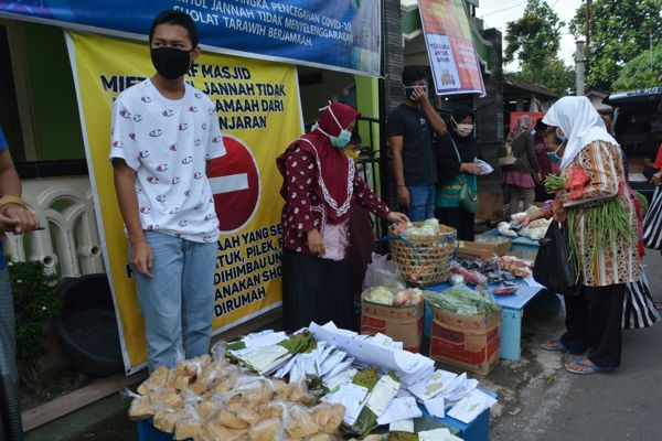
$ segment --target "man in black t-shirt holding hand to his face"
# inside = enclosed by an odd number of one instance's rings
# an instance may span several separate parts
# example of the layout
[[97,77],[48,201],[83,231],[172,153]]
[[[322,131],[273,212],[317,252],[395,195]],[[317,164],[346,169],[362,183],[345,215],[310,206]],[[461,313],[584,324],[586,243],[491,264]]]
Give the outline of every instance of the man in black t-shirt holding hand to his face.
[[388,143],[397,201],[407,209],[409,219],[420,222],[435,214],[437,165],[433,131],[446,133],[446,122],[428,100],[423,67],[404,68],[403,88],[405,101],[388,116]]

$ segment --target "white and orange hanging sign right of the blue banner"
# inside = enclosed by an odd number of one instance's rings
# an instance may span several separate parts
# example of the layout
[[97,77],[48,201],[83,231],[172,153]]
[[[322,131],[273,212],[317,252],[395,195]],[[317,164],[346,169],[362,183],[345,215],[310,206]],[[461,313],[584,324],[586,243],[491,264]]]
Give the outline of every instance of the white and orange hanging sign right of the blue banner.
[[462,0],[419,0],[437,95],[480,94],[485,86]]

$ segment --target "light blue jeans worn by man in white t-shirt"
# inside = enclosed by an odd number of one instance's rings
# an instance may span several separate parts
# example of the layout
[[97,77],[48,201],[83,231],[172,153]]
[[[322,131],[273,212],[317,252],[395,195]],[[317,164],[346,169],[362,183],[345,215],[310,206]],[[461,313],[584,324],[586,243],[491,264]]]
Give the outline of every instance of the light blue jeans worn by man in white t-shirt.
[[145,318],[148,366],[153,372],[209,352],[217,245],[158,232],[146,232],[145,236],[152,249],[149,272],[153,278],[135,275]]

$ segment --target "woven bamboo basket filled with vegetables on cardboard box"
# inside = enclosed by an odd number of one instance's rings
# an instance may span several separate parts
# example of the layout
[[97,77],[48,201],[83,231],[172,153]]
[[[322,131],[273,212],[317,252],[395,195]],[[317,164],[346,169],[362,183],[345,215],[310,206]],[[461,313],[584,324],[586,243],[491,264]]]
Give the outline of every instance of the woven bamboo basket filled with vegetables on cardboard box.
[[[412,223],[415,227],[421,222]],[[391,256],[403,279],[416,287],[428,287],[448,280],[450,260],[457,245],[457,230],[441,225],[436,236],[394,235],[388,238]]]

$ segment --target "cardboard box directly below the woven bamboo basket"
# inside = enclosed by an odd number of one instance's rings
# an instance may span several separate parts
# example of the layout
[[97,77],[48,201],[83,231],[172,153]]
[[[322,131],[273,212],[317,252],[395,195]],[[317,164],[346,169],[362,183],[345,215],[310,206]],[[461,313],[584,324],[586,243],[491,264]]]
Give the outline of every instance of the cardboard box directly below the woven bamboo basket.
[[[365,292],[363,295],[365,297]],[[386,306],[363,300],[361,333],[388,335],[403,342],[405,349],[418,353],[423,342],[423,301],[414,306]]]

